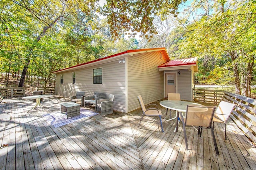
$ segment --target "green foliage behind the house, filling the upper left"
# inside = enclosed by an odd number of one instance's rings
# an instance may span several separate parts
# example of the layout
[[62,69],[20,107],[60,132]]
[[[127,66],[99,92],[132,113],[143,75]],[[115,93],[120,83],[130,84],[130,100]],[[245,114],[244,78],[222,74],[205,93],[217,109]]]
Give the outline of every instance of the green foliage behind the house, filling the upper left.
[[[96,15],[98,0],[0,2],[0,71],[41,76],[54,70],[138,48],[138,41],[116,46],[106,19]],[[127,46],[126,46],[127,45]]]

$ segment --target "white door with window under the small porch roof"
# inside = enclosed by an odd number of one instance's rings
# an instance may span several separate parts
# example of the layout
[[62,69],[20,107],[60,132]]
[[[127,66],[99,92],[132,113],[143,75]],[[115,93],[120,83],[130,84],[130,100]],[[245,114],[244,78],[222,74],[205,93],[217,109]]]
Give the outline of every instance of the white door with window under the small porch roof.
[[168,93],[176,93],[176,74],[166,73],[165,74],[165,96]]

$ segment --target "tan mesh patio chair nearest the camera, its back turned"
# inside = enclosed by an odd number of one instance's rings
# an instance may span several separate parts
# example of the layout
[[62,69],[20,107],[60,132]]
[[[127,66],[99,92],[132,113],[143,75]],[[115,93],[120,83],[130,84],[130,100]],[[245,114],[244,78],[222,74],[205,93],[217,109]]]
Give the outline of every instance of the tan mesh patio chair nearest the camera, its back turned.
[[214,135],[214,130],[212,127],[212,119],[214,116],[215,109],[216,109],[216,106],[188,105],[185,120],[182,113],[180,113],[187,150],[188,150],[188,141],[187,141],[187,135],[186,135],[186,126],[197,127],[198,135],[200,134],[200,137],[202,135],[202,128],[206,128],[206,129],[211,129],[216,154],[219,154],[218,146],[217,146],[215,135]]

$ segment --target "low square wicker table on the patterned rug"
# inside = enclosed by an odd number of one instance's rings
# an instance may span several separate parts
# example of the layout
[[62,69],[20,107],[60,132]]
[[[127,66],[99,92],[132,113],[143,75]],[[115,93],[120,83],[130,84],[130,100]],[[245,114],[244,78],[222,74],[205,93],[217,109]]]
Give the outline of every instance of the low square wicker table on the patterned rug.
[[68,117],[80,115],[80,104],[74,102],[67,102],[60,104],[60,113],[67,112]]

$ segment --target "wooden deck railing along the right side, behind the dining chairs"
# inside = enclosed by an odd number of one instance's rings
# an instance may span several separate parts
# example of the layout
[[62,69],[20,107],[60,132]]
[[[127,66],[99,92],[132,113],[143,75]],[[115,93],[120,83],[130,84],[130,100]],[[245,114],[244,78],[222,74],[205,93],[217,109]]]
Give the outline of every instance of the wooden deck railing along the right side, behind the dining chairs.
[[230,118],[256,143],[256,100],[238,94],[207,89],[194,89],[194,100],[218,105],[222,100],[237,104]]

